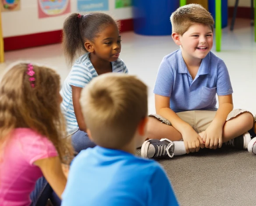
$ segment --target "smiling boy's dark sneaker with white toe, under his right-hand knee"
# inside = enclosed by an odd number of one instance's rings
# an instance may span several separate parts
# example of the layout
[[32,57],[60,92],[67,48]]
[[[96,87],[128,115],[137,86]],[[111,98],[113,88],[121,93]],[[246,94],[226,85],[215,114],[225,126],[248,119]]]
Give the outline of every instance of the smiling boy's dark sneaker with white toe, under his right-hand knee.
[[227,141],[225,145],[236,149],[247,149],[250,141],[251,135],[247,131],[243,135],[240,135],[238,137],[235,137],[234,139]]

